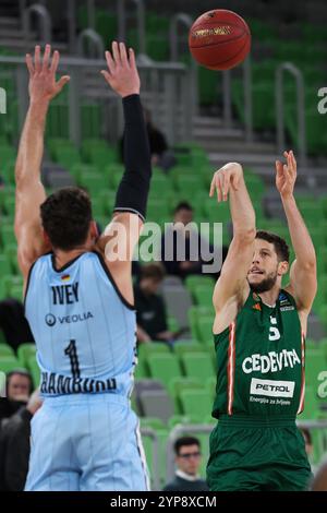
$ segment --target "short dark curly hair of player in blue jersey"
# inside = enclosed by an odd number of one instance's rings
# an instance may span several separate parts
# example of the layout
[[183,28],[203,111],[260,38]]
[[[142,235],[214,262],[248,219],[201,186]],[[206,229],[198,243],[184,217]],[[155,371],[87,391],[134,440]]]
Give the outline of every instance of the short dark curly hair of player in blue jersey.
[[86,241],[92,220],[90,199],[77,187],[53,192],[40,205],[44,229],[53,248],[70,251]]

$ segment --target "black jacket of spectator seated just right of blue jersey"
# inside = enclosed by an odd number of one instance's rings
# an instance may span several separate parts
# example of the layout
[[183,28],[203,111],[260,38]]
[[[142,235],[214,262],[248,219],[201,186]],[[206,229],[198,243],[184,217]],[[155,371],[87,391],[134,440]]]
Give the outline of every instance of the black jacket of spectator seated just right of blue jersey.
[[146,331],[150,338],[167,330],[166,307],[164,299],[157,294],[144,294],[138,285],[134,287],[136,322]]

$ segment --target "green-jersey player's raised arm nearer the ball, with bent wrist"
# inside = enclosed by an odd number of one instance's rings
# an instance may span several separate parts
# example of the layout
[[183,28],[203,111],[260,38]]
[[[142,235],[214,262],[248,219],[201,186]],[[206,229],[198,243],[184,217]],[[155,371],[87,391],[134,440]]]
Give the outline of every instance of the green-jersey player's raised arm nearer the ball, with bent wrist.
[[[255,212],[247,193],[240,164],[229,163],[215,172],[210,196],[217,190],[218,202],[230,195],[233,238],[215,286],[213,302],[216,311],[214,332],[223,331],[237,317],[250,291],[247,271],[254,253]],[[217,219],[219,219],[217,210]],[[225,228],[225,227],[223,227]]]

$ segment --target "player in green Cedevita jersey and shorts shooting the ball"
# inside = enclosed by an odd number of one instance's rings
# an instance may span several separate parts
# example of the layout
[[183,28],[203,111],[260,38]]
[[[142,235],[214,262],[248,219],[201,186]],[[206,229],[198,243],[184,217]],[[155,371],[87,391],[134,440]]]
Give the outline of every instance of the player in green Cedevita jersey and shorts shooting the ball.
[[303,490],[311,478],[295,426],[304,403],[304,341],[316,289],[316,255],[294,199],[296,162],[276,163],[276,186],[295,260],[275,234],[257,231],[243,169],[230,163],[210,195],[230,199],[233,239],[214,291],[217,389],[207,479],[210,490]]

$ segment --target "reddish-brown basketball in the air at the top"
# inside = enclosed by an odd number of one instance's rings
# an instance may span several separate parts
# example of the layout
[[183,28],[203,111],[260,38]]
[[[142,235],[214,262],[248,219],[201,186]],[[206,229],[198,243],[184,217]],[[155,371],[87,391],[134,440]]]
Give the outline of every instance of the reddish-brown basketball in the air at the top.
[[230,70],[243,62],[250,51],[250,28],[232,11],[208,11],[193,23],[189,47],[198,64],[209,70]]

